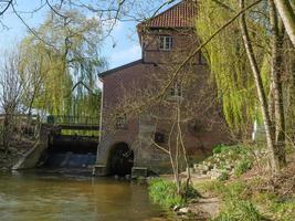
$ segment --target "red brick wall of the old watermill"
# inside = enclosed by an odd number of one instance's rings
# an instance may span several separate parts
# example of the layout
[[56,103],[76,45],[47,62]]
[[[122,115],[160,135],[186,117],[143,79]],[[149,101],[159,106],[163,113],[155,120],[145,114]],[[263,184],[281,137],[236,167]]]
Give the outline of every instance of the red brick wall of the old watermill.
[[[171,51],[159,51],[158,40],[161,34],[173,35],[173,49]],[[159,83],[159,80],[161,77],[165,80],[166,75],[172,75],[176,67],[179,66],[179,63],[181,63],[190,51],[198,45],[192,32],[188,35],[188,32],[173,32],[171,30],[161,32],[151,31],[148,34],[143,35],[141,41],[145,42],[146,45],[144,51],[144,63],[138,62],[134,65],[119,69],[102,78],[104,84],[104,134],[101,144],[102,149],[110,148],[110,146],[120,141],[125,141],[129,146],[133,146],[138,141],[138,115],[131,114],[127,116],[128,124],[126,129],[114,130],[114,112],[117,107],[120,107],[122,103],[125,103],[124,105],[126,105],[128,98],[130,104],[133,102],[135,102],[135,104],[144,102],[144,98],[141,97],[145,97],[143,94],[145,94],[145,91],[148,91],[148,88],[157,94],[160,91],[157,88],[161,87],[162,84],[167,82],[164,81]],[[224,130],[223,120],[218,114],[220,107],[215,104],[212,107],[209,106],[212,105],[211,101],[214,99],[215,94],[209,83],[209,72],[207,66],[199,64],[199,54],[193,57],[190,67],[186,67],[179,73],[179,77],[185,77],[189,74],[194,78],[194,82],[187,83],[190,84],[188,90],[183,93],[183,101],[187,103],[187,107],[183,106],[182,112],[188,115],[188,109],[192,108],[190,112],[193,113],[192,115],[203,126],[197,133],[191,133],[188,129],[188,123],[183,123],[185,144],[191,155],[201,157],[204,152],[210,151],[214,145],[228,143],[229,134]],[[190,103],[196,106],[190,105]],[[162,116],[169,116],[171,115],[171,105],[175,104],[165,102],[162,105],[149,107],[149,110],[154,112],[155,109],[158,109],[157,112],[161,112]],[[157,130],[162,130],[166,134],[169,134],[169,120],[165,122],[161,119],[157,122]],[[138,160],[140,160],[139,164],[143,162],[143,165],[148,166],[150,160],[152,160],[152,156],[155,156],[155,151],[152,149],[146,149],[145,151],[143,150],[143,152],[138,154]]]

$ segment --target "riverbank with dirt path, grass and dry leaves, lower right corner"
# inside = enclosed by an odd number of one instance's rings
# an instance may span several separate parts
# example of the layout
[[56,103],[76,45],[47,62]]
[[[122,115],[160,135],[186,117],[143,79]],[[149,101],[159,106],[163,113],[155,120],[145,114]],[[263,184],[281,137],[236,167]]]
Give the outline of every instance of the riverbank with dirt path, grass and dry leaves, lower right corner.
[[[201,197],[168,210],[183,220],[295,220],[295,155],[287,155],[287,166],[277,175],[267,172],[261,162],[225,180],[192,176],[192,186]],[[172,181],[173,177],[161,179]]]

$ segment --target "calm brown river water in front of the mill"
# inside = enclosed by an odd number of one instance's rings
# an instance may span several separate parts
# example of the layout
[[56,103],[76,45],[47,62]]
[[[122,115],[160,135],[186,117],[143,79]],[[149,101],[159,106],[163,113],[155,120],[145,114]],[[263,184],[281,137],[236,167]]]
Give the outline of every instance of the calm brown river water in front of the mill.
[[160,217],[143,185],[70,175],[0,173],[0,221],[148,221]]

